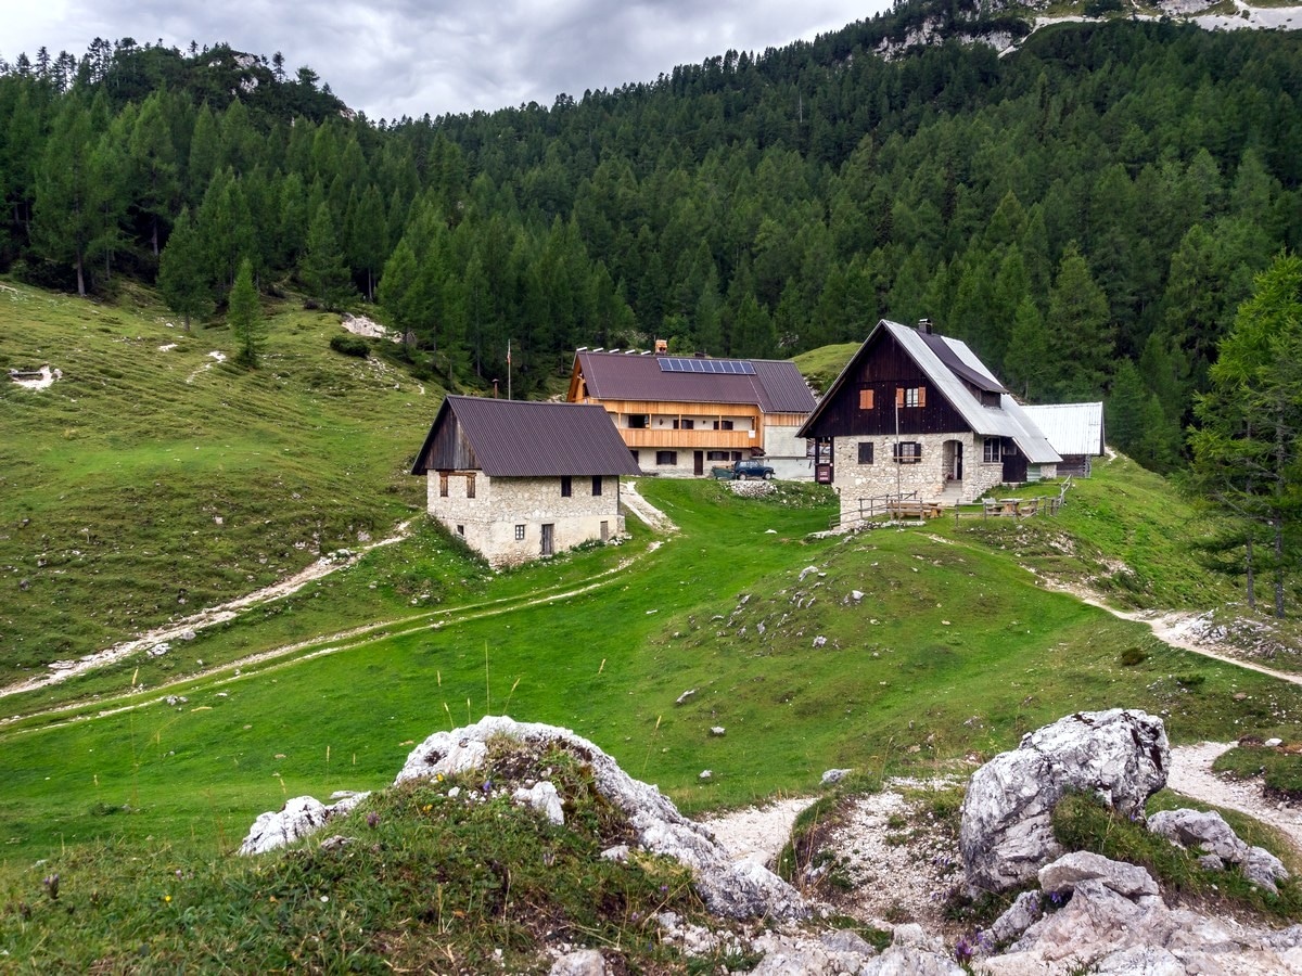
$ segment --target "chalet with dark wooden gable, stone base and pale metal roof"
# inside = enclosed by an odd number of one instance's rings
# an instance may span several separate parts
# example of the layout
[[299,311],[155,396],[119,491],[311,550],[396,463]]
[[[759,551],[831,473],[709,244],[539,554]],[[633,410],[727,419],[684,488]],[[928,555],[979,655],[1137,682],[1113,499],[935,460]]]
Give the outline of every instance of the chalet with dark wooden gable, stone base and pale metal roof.
[[970,502],[996,484],[1052,478],[1060,457],[963,344],[883,319],[798,431],[841,522],[868,500]]

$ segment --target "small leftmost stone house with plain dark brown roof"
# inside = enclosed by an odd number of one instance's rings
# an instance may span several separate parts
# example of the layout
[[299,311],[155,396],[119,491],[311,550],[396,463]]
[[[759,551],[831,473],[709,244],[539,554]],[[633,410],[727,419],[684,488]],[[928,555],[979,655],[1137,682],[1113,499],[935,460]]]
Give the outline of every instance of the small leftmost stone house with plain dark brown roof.
[[639,475],[602,407],[443,401],[411,466],[430,514],[493,565],[622,534],[620,475]]

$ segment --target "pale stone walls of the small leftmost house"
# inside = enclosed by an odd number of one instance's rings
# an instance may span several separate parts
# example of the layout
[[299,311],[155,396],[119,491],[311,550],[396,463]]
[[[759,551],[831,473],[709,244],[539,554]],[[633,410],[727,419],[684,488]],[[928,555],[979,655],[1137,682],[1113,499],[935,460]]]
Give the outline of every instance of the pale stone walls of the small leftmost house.
[[[470,479],[474,497],[470,497]],[[591,539],[608,540],[624,534],[620,515],[620,479],[602,479],[602,493],[592,495],[592,479],[570,478],[570,495],[561,495],[560,478],[488,478],[483,471],[431,471],[427,480],[430,514],[495,566],[506,566],[542,556],[543,526],[552,526],[552,552],[564,552]]]

